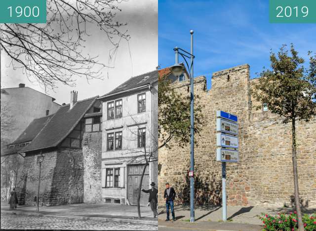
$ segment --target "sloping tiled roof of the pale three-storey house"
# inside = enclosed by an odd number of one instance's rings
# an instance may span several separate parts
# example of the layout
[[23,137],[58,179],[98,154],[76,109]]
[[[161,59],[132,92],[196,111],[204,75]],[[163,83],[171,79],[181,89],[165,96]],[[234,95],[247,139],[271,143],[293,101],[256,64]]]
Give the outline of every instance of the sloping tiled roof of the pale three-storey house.
[[124,83],[122,83],[121,85],[119,85],[116,89],[114,89],[113,91],[104,94],[100,97],[105,97],[105,96],[109,96],[111,94],[116,94],[119,92],[124,92],[127,90],[131,90],[137,87],[141,87],[141,86],[146,86],[148,84],[152,84],[158,81],[158,71],[152,71],[152,72],[148,72],[139,76],[135,76],[130,78],[129,80],[125,81]]

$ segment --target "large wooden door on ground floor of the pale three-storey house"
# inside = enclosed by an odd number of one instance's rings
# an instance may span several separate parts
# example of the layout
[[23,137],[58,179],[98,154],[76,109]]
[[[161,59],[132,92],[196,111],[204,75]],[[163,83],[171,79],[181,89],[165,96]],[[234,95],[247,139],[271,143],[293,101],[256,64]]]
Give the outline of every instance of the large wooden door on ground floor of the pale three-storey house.
[[[128,165],[127,167],[127,198],[131,205],[137,205],[138,185],[142,177],[144,164]],[[142,187],[149,189],[149,165],[143,178]],[[146,206],[148,203],[149,193],[140,193],[140,205]]]

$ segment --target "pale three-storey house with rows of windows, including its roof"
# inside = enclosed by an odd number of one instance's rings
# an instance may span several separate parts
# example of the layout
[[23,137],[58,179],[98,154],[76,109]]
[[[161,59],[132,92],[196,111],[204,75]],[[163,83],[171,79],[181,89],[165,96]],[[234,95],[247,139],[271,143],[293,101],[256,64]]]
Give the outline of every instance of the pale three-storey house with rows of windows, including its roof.
[[[103,102],[102,201],[137,204],[138,187],[158,182],[158,71],[132,77],[99,98]],[[141,205],[148,195],[141,193]]]

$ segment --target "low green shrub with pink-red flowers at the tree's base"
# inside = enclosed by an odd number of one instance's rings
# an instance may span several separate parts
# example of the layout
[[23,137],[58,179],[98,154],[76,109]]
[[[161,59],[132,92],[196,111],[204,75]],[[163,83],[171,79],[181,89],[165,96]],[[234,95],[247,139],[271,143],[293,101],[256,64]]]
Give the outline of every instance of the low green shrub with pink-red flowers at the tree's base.
[[[262,213],[262,217],[260,217],[260,219],[264,225],[263,231],[298,230],[296,211],[289,214],[279,213],[276,216]],[[303,224],[305,231],[316,231],[316,214],[313,214],[311,216],[304,214]]]

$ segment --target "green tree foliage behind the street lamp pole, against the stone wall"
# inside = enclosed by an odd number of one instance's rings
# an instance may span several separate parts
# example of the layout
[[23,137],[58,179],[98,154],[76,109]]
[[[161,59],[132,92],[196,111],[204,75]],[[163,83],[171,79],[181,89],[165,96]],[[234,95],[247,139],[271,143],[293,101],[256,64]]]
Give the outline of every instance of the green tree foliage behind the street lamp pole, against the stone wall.
[[[184,95],[174,89],[167,75],[158,78],[158,149],[163,146],[169,147],[168,142],[171,139],[184,146],[190,143],[190,94]],[[199,96],[195,95],[195,100],[198,99]],[[195,135],[199,135],[202,127],[201,110],[202,106],[195,103]]]

